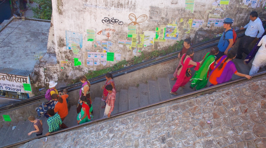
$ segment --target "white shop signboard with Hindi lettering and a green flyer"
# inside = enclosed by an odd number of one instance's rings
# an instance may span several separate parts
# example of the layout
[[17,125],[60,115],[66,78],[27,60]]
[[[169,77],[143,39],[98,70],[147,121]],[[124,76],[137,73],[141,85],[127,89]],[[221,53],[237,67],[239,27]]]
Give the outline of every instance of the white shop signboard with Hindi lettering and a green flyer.
[[0,73],[0,90],[32,94],[30,76]]

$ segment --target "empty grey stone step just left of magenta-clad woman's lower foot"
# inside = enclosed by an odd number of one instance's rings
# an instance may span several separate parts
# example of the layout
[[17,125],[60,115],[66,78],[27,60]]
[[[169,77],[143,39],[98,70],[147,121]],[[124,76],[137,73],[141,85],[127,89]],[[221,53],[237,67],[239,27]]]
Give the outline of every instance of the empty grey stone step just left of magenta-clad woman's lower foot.
[[159,77],[157,81],[159,84],[161,100],[171,98],[171,94],[169,92],[171,91],[172,88],[170,88],[170,84],[167,77]]

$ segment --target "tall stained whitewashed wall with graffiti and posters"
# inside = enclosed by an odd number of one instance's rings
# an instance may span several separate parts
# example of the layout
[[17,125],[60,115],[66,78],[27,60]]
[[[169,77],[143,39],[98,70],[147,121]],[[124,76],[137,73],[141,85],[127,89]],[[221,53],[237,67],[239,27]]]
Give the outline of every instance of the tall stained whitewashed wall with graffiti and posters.
[[[57,64],[55,67],[58,70],[57,73],[53,70],[51,75],[57,75],[58,79],[74,79],[89,70],[98,70],[114,65],[120,61],[119,55],[121,55],[121,60],[130,60],[134,55],[141,55],[140,51],[147,53],[154,50],[164,50],[176,41],[188,37],[191,37],[192,40],[214,38],[214,33],[223,32],[223,25],[217,24],[221,27],[216,27],[214,26],[215,23],[211,23],[208,26],[209,19],[213,21],[221,19],[222,22],[224,18],[230,17],[234,19],[233,27],[240,27],[248,23],[251,11],[257,11],[259,18],[265,18],[266,12],[263,11],[265,10],[265,1],[258,1],[256,6],[252,3],[244,5],[242,0],[240,0],[241,3],[237,0],[230,0],[229,3],[222,1],[228,5],[220,5],[219,2],[215,0],[195,0],[194,2],[175,0],[54,0],[52,1],[53,14],[48,39],[48,52],[56,53]],[[168,24],[173,25],[163,29]],[[128,36],[128,31],[132,31],[131,25],[136,26],[137,41],[135,41],[134,35],[133,41],[132,37]],[[165,36],[164,30],[169,32],[166,38],[163,38]],[[206,32],[211,35],[208,38],[200,36],[195,38],[197,32]],[[141,40],[142,37],[144,40]],[[122,40],[120,41],[121,44],[119,44],[119,40]],[[101,64],[101,62],[105,63],[104,60],[90,61],[93,58],[88,57],[88,52],[104,52],[106,46],[104,46],[105,42],[103,41],[110,43],[108,52],[118,54],[117,57],[114,57],[114,61],[107,61],[106,65]],[[128,41],[128,46],[123,45],[124,42],[127,43]],[[133,45],[130,41],[133,42]],[[141,46],[141,42],[146,46]],[[138,45],[134,47],[134,43]],[[76,58],[76,62],[74,58]],[[60,60],[68,60],[71,63],[60,66]],[[92,65],[87,65],[87,61]],[[60,70],[60,68],[63,69]]]

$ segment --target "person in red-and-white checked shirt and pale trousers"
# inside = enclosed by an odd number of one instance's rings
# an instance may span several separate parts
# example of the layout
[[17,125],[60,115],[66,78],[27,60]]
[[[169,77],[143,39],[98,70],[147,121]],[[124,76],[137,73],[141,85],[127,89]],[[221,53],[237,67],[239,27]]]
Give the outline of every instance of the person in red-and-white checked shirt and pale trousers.
[[115,106],[115,89],[111,84],[106,85],[105,89],[108,91],[107,99],[105,100],[106,106],[104,110],[103,117],[108,116],[110,117],[111,112],[114,110]]

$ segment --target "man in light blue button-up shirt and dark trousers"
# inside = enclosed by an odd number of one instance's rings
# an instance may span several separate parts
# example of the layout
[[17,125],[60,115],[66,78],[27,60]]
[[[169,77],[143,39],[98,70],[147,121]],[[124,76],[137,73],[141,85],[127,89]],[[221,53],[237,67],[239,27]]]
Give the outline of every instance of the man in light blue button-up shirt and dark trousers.
[[[247,28],[247,29],[246,29]],[[242,53],[245,53],[246,55],[249,54],[248,46],[250,43],[255,39],[256,41],[259,40],[259,38],[264,33],[264,28],[262,26],[262,22],[260,18],[258,18],[258,13],[256,11],[252,11],[250,13],[250,22],[244,26],[243,28],[240,28],[240,30],[246,29],[245,36],[242,37],[238,50],[237,50],[237,56],[235,58],[242,59]],[[259,31],[259,33],[258,33]]]

